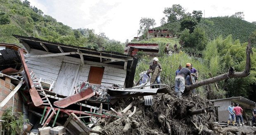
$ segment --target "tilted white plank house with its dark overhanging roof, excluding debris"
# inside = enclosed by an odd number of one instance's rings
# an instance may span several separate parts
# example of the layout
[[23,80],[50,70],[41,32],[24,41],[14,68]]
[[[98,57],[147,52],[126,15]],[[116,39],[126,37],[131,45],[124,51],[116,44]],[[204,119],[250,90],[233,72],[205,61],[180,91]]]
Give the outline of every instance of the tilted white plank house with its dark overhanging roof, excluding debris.
[[87,49],[14,35],[26,49],[26,65],[41,80],[54,81],[52,92],[71,96],[74,86],[91,84],[132,87],[137,59],[132,56]]

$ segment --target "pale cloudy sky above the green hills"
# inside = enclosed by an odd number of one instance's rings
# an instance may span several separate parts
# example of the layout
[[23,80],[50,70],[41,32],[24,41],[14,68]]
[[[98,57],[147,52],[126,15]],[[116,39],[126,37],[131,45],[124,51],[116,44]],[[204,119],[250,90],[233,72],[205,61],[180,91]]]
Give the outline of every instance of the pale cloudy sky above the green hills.
[[28,0],[57,21],[72,27],[94,29],[109,39],[125,42],[137,37],[142,17],[156,26],[165,16],[165,7],[180,4],[186,12],[201,10],[203,17],[231,16],[244,12],[245,21],[256,21],[254,0]]

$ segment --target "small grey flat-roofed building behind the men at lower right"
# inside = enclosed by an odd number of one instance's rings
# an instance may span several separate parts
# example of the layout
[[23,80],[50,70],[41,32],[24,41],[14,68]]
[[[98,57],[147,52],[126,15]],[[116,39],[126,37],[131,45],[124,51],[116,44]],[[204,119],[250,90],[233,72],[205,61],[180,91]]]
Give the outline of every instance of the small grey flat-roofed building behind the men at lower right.
[[[223,98],[223,99],[216,99],[211,100],[211,102],[214,103],[214,106],[218,107],[218,112],[216,112],[218,119],[217,121],[228,121],[228,106],[231,105],[232,102],[238,103],[242,109],[252,109],[254,108],[254,105],[256,102],[251,101],[244,97],[233,97],[233,98]],[[245,111],[244,111],[245,112]],[[251,111],[250,111],[251,112]],[[243,114],[244,117],[246,117],[245,113]],[[247,117],[244,121],[248,121]]]

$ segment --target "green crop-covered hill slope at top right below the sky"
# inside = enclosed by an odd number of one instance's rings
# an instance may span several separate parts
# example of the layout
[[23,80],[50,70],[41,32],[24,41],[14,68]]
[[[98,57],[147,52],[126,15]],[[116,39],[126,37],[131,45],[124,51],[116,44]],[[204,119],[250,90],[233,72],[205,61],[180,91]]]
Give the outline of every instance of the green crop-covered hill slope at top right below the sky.
[[204,28],[209,39],[216,39],[219,35],[227,37],[232,35],[233,39],[247,42],[251,33],[256,30],[256,25],[236,17],[211,17],[202,19],[198,24]]

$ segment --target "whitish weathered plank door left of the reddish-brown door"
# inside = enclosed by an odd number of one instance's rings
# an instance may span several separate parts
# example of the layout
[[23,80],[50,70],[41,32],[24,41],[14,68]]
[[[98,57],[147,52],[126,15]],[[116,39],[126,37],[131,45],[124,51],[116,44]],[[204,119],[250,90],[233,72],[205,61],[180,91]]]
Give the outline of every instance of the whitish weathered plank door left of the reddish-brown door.
[[59,95],[70,96],[73,94],[73,87],[78,74],[79,65],[62,63],[53,92]]

